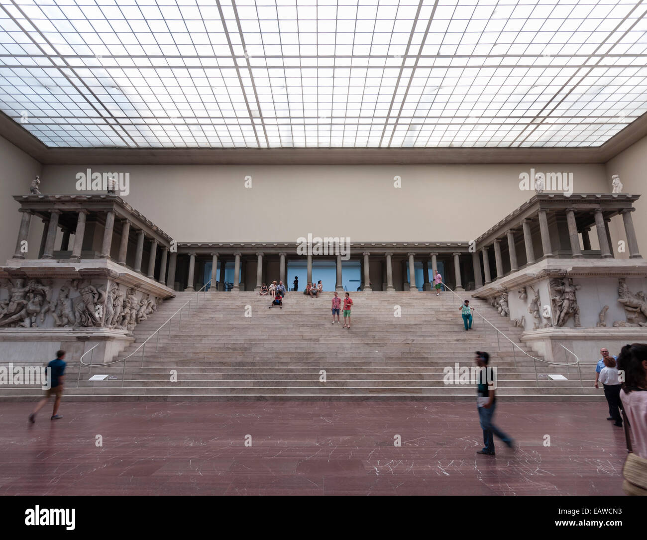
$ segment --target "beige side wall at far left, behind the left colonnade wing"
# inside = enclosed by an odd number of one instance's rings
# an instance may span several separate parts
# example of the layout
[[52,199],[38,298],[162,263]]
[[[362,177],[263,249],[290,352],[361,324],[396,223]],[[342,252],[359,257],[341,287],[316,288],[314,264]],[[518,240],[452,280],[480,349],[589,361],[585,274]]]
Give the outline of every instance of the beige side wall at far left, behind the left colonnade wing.
[[[12,199],[12,195],[29,193],[32,180],[36,175],[41,175],[41,164],[3,137],[0,137],[0,164],[0,264],[4,265],[6,259],[14,255],[20,228],[20,205]],[[28,239],[29,258],[38,257],[42,228],[40,220],[32,219]]]

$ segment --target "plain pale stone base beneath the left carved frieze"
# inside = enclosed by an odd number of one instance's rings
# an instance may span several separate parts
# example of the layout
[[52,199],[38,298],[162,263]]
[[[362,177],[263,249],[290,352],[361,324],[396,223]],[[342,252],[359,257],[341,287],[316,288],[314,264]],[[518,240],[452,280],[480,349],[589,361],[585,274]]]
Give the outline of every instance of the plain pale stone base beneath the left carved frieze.
[[[6,328],[0,330],[0,363],[42,365],[56,358],[56,351],[67,358],[83,358],[85,363],[107,363],[133,343],[133,332],[118,329]],[[92,358],[92,362],[90,359]]]

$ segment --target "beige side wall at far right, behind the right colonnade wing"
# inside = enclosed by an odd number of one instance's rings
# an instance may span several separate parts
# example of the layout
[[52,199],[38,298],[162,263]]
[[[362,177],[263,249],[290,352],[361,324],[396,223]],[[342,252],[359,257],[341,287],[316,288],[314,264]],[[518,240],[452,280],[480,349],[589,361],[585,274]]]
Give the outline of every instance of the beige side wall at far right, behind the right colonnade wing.
[[[642,195],[636,202],[636,211],[631,217],[641,255],[647,257],[647,137],[642,138],[606,164],[605,181],[609,191],[611,175],[620,175],[620,182],[624,184],[623,193]],[[614,224],[611,228],[611,240],[615,244],[615,256],[628,258],[629,250],[619,254],[617,247],[619,240],[626,240],[622,218],[615,217],[611,222]]]

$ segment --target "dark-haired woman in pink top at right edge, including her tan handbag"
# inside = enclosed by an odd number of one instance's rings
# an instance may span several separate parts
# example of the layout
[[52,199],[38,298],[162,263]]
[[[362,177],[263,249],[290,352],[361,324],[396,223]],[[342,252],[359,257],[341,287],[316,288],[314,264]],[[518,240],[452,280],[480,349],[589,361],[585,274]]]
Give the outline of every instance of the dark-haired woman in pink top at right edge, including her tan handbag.
[[[618,368],[623,379],[620,400],[629,452],[622,468],[622,490],[627,495],[647,495],[647,343],[622,347]],[[635,445],[631,444],[630,426]]]

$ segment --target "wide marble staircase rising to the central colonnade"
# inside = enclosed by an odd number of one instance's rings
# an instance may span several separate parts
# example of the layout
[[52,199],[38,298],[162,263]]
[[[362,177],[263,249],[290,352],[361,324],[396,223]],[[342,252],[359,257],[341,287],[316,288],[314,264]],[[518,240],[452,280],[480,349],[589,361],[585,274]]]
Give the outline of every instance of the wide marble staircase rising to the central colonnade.
[[[468,293],[463,293],[468,296]],[[452,294],[355,292],[351,329],[331,324],[332,292],[290,292],[283,308],[253,292],[179,292],[135,329],[136,341],[114,363],[89,368],[68,358],[65,398],[72,400],[475,400],[472,383],[446,384],[444,369],[474,365],[490,352],[498,394],[510,399],[604,399],[593,368],[534,362],[475,316],[466,332]],[[343,296],[343,294],[342,294]],[[196,303],[197,300],[197,303]],[[157,328],[186,302],[159,336]],[[485,301],[470,305],[520,348],[521,329]],[[89,356],[85,357],[89,361]],[[540,358],[540,360],[543,360]],[[573,358],[570,360],[573,362]],[[536,365],[536,371],[535,371]],[[325,371],[325,382],[322,382]],[[122,373],[124,379],[122,381]],[[177,380],[171,380],[177,373]],[[537,378],[536,378],[537,373]],[[89,381],[92,374],[112,378]],[[551,380],[562,374],[566,380]],[[33,400],[39,387],[0,387],[0,400]]]

